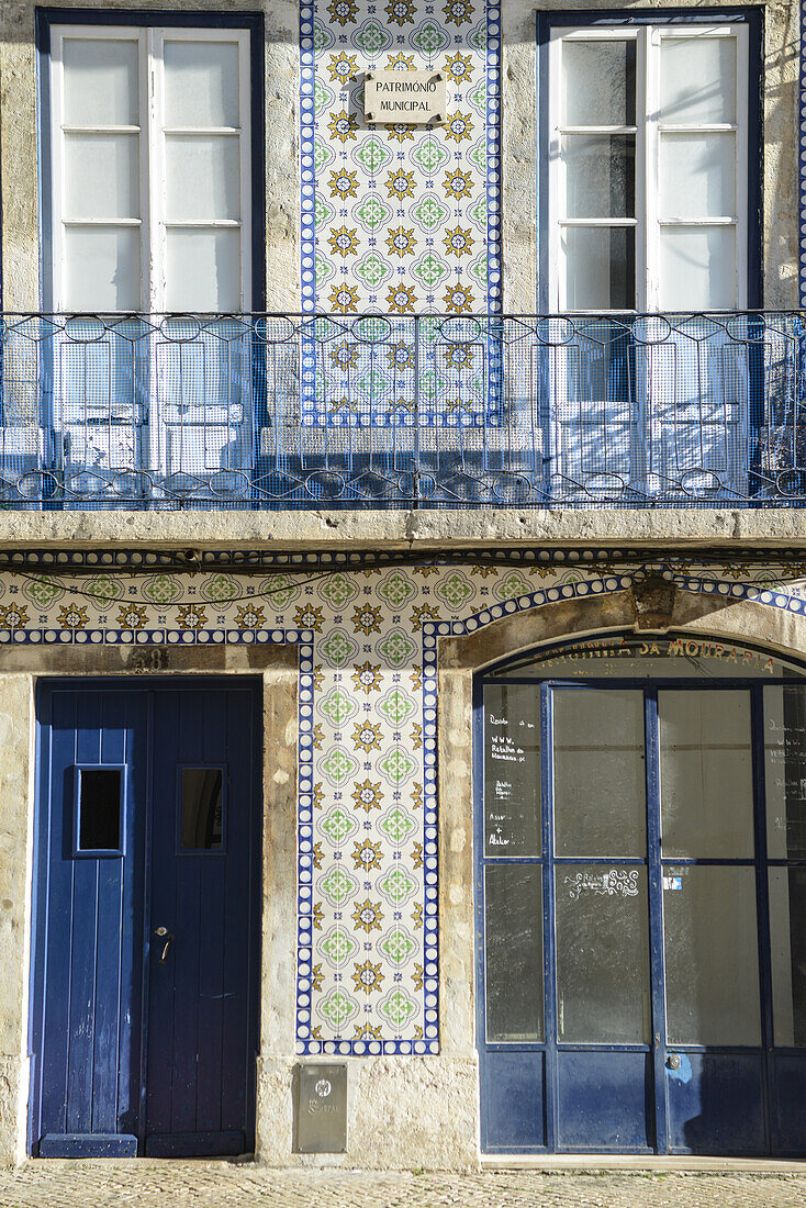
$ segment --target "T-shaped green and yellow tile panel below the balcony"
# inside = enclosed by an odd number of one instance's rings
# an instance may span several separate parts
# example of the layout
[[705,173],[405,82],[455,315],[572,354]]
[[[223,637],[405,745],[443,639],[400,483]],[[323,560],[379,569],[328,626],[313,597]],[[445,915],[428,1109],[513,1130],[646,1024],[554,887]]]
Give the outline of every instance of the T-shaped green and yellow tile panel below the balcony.
[[[301,1053],[439,1049],[436,652],[440,637],[630,587],[640,567],[517,551],[501,564],[266,564],[144,573],[109,554],[79,579],[0,574],[0,645],[298,646]],[[112,565],[114,562],[114,565]],[[657,568],[684,591],[806,614],[806,565]],[[471,808],[468,802],[468,809]]]

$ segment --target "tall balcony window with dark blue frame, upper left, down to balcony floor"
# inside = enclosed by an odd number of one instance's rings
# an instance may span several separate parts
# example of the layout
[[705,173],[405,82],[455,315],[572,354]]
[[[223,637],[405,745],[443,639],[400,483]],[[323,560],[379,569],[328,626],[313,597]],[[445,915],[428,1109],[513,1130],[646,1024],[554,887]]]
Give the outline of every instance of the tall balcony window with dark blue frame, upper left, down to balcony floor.
[[[172,498],[250,506],[266,426],[265,320],[186,312],[260,312],[266,304],[263,17],[44,8],[36,45],[42,304],[64,307],[68,298],[81,313],[56,324],[30,320],[8,338],[10,359],[21,358],[37,388],[40,377],[52,383],[37,389],[37,426],[27,418],[6,441],[13,472],[42,472],[48,509],[164,506]],[[117,91],[108,80],[106,108],[97,117],[86,95],[92,71],[103,75],[109,64]],[[204,70],[202,85],[219,83],[197,115],[187,98],[193,88],[204,93],[197,79]],[[83,104],[75,99],[76,81],[83,81]],[[104,140],[116,140],[116,157],[99,157]],[[108,179],[110,159],[126,168],[116,181]],[[208,159],[232,170],[205,170]],[[89,175],[93,164],[106,165],[103,190],[75,184],[85,161]],[[74,184],[57,187],[68,163]],[[193,172],[214,182],[198,203],[198,190],[176,185]],[[145,196],[145,180],[164,205]],[[111,199],[95,215],[88,201],[106,192]],[[58,213],[57,197],[66,198]],[[128,233],[118,246],[121,231]],[[198,249],[191,261],[189,238]],[[98,289],[81,284],[83,273],[70,275],[70,265],[83,262],[79,244],[68,255],[75,239],[89,240],[103,262]],[[191,288],[182,283],[192,261],[207,267]],[[153,320],[144,310],[181,313]]]

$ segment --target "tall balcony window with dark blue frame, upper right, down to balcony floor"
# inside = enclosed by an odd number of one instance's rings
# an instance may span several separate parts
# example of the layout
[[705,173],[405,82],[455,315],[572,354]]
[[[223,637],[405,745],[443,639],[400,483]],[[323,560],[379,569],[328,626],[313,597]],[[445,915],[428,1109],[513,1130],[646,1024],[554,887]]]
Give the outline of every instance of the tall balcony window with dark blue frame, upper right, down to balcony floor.
[[[764,381],[782,354],[749,313],[762,303],[761,28],[743,8],[538,14],[537,306],[579,312],[568,348],[558,327],[538,364],[552,498],[759,493]],[[690,47],[714,72],[711,109],[696,81],[668,82],[672,52]],[[686,188],[669,184],[680,164]]]

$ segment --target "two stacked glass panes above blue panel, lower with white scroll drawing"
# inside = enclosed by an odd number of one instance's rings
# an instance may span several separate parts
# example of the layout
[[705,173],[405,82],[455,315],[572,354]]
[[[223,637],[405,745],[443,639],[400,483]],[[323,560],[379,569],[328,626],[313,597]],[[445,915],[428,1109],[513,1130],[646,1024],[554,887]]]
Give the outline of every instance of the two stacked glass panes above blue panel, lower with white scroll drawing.
[[644,1044],[650,994],[643,692],[557,689],[552,712],[555,856],[562,860],[555,867],[557,1039]]

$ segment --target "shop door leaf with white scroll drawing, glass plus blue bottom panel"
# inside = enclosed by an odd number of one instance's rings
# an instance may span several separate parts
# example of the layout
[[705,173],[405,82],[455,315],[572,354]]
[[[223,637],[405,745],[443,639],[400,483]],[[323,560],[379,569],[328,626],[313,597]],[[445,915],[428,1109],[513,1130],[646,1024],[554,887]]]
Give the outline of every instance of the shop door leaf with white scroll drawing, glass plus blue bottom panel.
[[644,693],[552,691],[556,1148],[653,1148]]

